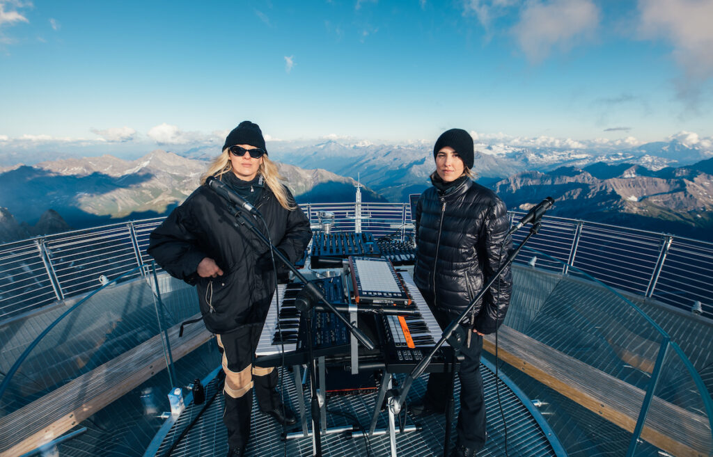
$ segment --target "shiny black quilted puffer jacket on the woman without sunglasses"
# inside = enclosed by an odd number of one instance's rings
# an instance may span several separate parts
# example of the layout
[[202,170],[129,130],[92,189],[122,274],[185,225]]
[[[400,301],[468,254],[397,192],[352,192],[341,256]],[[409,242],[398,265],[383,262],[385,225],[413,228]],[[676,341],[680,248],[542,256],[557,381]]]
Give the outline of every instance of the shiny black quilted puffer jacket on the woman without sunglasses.
[[[503,201],[471,179],[445,190],[426,189],[416,205],[416,285],[434,295],[437,308],[457,317],[505,263],[512,243],[506,237],[509,227]],[[496,281],[473,309],[476,330],[495,332],[511,290],[508,266],[499,292]]]

